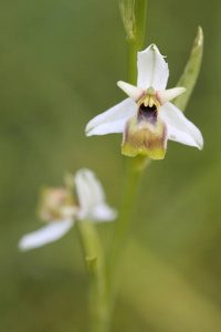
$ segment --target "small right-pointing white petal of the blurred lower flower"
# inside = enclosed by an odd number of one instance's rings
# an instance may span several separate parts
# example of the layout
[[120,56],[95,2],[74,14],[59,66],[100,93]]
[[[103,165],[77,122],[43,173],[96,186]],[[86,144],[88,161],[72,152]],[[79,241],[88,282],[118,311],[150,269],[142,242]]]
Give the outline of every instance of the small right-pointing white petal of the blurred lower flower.
[[106,203],[95,206],[92,210],[91,218],[96,221],[112,221],[116,219],[117,211],[110,208]]

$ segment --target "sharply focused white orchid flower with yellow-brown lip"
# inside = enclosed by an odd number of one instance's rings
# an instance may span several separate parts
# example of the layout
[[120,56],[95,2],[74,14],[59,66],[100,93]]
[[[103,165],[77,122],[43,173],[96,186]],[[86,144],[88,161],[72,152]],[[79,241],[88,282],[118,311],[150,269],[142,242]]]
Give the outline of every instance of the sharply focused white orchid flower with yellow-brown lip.
[[124,133],[122,153],[131,157],[140,154],[162,159],[168,139],[201,149],[200,131],[169,103],[186,89],[165,90],[168,64],[155,44],[138,52],[137,68],[137,86],[117,82],[129,97],[90,121],[86,135]]

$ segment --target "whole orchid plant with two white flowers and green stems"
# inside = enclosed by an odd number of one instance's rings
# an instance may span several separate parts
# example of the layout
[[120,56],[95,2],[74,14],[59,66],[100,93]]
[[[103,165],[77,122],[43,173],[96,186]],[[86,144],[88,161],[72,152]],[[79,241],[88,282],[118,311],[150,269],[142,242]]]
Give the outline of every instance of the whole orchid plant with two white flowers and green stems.
[[[36,248],[63,237],[76,224],[90,274],[90,330],[107,332],[117,289],[119,261],[139,179],[150,159],[162,159],[167,141],[201,149],[200,131],[183,115],[194,87],[202,58],[201,28],[181,75],[173,89],[166,90],[169,70],[155,44],[143,50],[146,0],[120,0],[120,13],[128,49],[128,83],[117,85],[129,96],[97,115],[86,126],[86,135],[123,133],[125,180],[118,216],[105,203],[101,183],[90,169],[65,177],[62,188],[45,189],[41,197],[40,218],[48,222],[20,240],[22,250]],[[138,72],[138,74],[137,74]],[[172,103],[171,103],[171,102]],[[95,222],[115,221],[115,234],[108,252],[101,242]]]

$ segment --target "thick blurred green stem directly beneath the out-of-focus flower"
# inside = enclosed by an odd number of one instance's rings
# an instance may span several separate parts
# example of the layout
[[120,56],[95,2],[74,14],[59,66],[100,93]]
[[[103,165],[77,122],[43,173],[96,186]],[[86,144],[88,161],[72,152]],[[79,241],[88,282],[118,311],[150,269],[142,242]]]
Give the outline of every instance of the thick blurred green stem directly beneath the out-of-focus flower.
[[109,308],[103,247],[95,225],[88,220],[77,221],[76,225],[90,276],[90,331],[107,332]]

